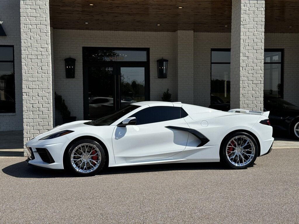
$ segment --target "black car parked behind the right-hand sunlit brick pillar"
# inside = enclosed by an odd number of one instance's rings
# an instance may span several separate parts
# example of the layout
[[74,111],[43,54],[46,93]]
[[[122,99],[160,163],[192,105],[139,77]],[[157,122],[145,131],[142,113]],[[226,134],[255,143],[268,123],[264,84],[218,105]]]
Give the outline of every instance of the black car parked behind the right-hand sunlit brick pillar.
[[[229,111],[229,103],[210,105],[209,108]],[[264,111],[270,111],[269,121],[273,132],[284,133],[299,140],[299,107],[277,97],[264,97]]]

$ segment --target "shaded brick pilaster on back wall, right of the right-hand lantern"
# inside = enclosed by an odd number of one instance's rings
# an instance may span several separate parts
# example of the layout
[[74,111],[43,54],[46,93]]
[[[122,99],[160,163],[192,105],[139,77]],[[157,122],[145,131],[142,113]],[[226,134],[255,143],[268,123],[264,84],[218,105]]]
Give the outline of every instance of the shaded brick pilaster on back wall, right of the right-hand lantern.
[[177,50],[178,101],[193,104],[193,31],[178,30]]

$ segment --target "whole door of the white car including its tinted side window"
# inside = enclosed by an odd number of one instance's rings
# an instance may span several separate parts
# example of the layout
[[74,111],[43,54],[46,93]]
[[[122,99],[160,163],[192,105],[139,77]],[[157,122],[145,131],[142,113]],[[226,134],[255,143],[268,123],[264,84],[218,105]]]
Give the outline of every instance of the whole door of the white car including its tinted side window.
[[136,117],[136,125],[115,127],[112,135],[115,162],[161,159],[183,151],[189,133],[166,128],[189,128],[181,110],[173,106],[148,107],[130,116]]

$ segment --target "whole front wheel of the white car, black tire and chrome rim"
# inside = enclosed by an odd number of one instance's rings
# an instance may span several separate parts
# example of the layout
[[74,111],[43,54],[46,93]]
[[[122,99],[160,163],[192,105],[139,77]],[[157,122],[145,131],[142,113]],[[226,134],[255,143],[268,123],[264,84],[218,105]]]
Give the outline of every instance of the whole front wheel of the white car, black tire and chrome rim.
[[72,174],[87,177],[94,176],[102,170],[106,155],[99,143],[91,139],[82,139],[71,145],[65,159]]

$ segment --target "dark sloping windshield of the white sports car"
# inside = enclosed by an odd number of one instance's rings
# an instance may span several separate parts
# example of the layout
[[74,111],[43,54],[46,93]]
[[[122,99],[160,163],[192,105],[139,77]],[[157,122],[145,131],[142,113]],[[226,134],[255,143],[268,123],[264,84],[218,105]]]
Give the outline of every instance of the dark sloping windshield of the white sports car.
[[127,113],[130,113],[131,111],[134,111],[140,106],[137,105],[128,105],[125,108],[119,109],[118,111],[115,111],[114,113],[104,116],[100,119],[97,119],[95,121],[90,121],[87,124],[94,125],[94,126],[103,126],[103,125],[111,125],[121,117],[125,116]]

